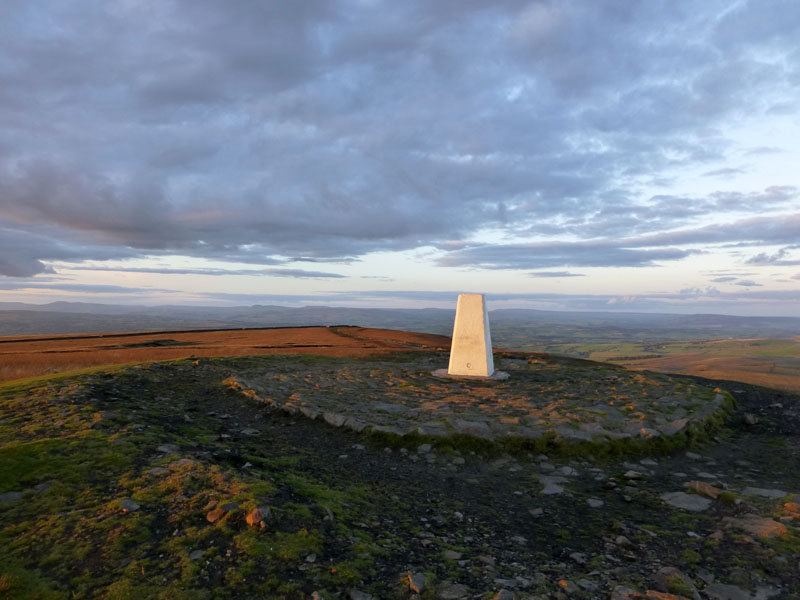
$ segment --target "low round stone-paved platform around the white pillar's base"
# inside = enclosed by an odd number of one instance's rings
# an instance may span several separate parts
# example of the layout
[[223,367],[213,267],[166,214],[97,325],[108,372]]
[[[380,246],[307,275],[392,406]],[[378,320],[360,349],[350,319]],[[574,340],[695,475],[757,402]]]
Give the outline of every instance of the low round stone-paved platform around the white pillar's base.
[[728,394],[685,379],[534,353],[496,353],[506,380],[437,378],[431,371],[446,356],[265,357],[226,383],[336,427],[497,442],[658,439],[705,426],[733,404]]

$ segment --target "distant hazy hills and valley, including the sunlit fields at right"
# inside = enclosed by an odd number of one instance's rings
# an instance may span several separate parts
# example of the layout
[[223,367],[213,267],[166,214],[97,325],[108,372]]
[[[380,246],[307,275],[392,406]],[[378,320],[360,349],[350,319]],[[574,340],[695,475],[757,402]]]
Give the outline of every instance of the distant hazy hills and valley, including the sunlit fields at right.
[[[5,303],[0,309],[0,336],[7,338],[315,325],[449,336],[455,315],[453,310],[433,308],[141,307],[67,302]],[[800,318],[500,309],[490,312],[490,320],[497,348],[800,390]]]

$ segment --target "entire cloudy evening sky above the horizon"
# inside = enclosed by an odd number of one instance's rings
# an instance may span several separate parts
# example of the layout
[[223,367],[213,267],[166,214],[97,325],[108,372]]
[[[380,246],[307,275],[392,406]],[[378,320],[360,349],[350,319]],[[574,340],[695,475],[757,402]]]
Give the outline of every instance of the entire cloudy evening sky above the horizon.
[[0,5],[0,301],[799,290],[796,0]]

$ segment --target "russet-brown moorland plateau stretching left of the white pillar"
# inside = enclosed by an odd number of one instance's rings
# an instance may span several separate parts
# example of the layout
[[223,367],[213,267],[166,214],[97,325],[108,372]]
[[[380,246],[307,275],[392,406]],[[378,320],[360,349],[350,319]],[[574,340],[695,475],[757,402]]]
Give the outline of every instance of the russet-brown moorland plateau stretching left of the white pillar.
[[449,348],[450,339],[444,336],[350,326],[2,336],[0,381],[192,357],[319,354],[359,358]]

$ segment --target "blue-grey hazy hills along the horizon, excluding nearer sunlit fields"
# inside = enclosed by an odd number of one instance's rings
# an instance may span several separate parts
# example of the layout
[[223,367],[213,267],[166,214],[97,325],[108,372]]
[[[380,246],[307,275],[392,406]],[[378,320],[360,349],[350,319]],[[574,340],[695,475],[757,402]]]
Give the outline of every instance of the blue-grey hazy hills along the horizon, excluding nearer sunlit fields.
[[[54,302],[0,303],[0,335],[361,325],[449,335],[454,310],[330,306],[131,306]],[[496,345],[548,349],[560,344],[712,338],[800,336],[800,318],[557,312],[499,309],[490,312]]]

